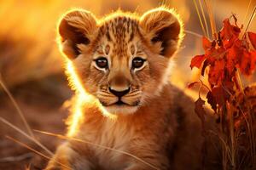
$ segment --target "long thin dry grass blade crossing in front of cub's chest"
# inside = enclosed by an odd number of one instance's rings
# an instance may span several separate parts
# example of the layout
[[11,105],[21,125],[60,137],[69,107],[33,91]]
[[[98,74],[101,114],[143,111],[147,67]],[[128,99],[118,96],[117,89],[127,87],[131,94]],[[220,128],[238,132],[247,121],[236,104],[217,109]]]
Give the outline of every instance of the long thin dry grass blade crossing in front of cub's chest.
[[50,136],[55,136],[55,137],[60,138],[60,139],[67,139],[67,140],[73,140],[73,141],[84,143],[84,144],[91,144],[91,145],[94,145],[94,146],[96,146],[98,148],[102,148],[104,150],[112,150],[112,151],[118,152],[118,153],[126,155],[126,156],[131,156],[132,158],[136,159],[137,161],[141,161],[143,164],[147,165],[148,167],[152,167],[152,168],[154,168],[156,170],[160,170],[157,167],[154,167],[154,165],[148,163],[147,161],[144,161],[143,159],[141,159],[141,158],[139,158],[137,156],[134,156],[131,153],[122,151],[122,150],[115,150],[113,148],[109,148],[109,147],[101,145],[101,144],[94,144],[92,142],[84,141],[82,139],[76,139],[76,138],[67,137],[67,136],[64,136],[64,135],[61,135],[61,134],[49,133],[49,132],[44,132],[44,131],[40,131],[40,130],[34,130],[34,131],[38,132],[38,133],[47,134],[47,135],[50,135]]

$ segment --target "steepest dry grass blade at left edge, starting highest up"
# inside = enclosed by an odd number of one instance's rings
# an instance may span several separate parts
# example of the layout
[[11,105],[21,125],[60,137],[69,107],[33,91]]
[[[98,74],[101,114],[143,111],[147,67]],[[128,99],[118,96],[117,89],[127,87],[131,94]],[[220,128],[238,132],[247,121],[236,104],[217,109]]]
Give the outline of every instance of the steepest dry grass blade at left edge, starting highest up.
[[33,137],[35,138],[34,134],[32,133],[32,129],[29,127],[28,123],[26,122],[25,116],[22,113],[22,111],[20,110],[19,105],[17,104],[17,102],[15,101],[15,98],[13,97],[13,95],[9,92],[9,89],[5,86],[5,84],[3,83],[3,79],[0,73],[0,85],[2,86],[4,92],[6,92],[6,94],[9,96],[9,99],[12,101],[13,105],[15,106],[16,111],[18,111],[22,122],[24,123],[27,132]]

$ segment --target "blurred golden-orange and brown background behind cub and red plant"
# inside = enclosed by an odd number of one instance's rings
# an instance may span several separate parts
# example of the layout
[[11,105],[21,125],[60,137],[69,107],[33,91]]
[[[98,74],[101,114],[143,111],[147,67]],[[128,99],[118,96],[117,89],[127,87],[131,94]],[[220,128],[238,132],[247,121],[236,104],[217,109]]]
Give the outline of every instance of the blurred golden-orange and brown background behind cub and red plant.
[[[198,77],[198,71],[190,70],[190,59],[203,53],[199,36],[202,35],[201,25],[192,0],[0,0],[0,75],[30,126],[65,133],[67,109],[62,105],[73,92],[67,87],[61,54],[55,43],[56,23],[61,14],[71,8],[90,10],[97,18],[118,8],[143,14],[162,4],[177,9],[187,31],[172,73],[172,82],[186,89],[187,84]],[[231,14],[236,14],[239,24],[247,25],[255,5],[256,0],[212,0],[218,29],[222,26],[222,20]],[[255,32],[254,23],[255,20],[249,30]],[[253,77],[244,79],[244,82],[253,82]],[[1,87],[0,116],[25,130],[15,107]],[[41,157],[6,139],[7,134],[37,148],[0,123],[0,169],[24,169],[29,165],[38,169],[44,167],[45,161]],[[36,136],[50,150],[55,150],[55,144],[59,142],[49,136],[37,133]]]

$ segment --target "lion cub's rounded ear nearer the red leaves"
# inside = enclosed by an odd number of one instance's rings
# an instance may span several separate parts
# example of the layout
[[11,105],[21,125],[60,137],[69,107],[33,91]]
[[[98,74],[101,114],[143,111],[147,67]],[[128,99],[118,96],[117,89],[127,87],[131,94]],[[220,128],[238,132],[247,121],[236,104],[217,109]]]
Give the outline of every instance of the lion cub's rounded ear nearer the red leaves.
[[155,8],[143,14],[139,21],[143,37],[150,41],[154,51],[171,57],[183,37],[183,25],[172,9]]

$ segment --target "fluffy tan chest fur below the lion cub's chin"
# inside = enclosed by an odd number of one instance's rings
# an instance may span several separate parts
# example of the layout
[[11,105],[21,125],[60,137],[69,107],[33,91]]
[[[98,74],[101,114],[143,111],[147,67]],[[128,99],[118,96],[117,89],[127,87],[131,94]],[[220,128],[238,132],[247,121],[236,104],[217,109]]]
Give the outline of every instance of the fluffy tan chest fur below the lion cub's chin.
[[[96,144],[86,147],[89,148],[99,167],[113,170],[127,167],[131,157],[121,152],[129,153],[131,151],[131,140],[135,136],[134,126],[124,120],[113,120],[97,114],[87,116],[79,128],[79,133],[75,136],[78,135],[79,139]],[[96,119],[97,121],[95,121]],[[83,145],[79,145],[79,147],[83,147]],[[81,155],[86,155],[86,151]]]

